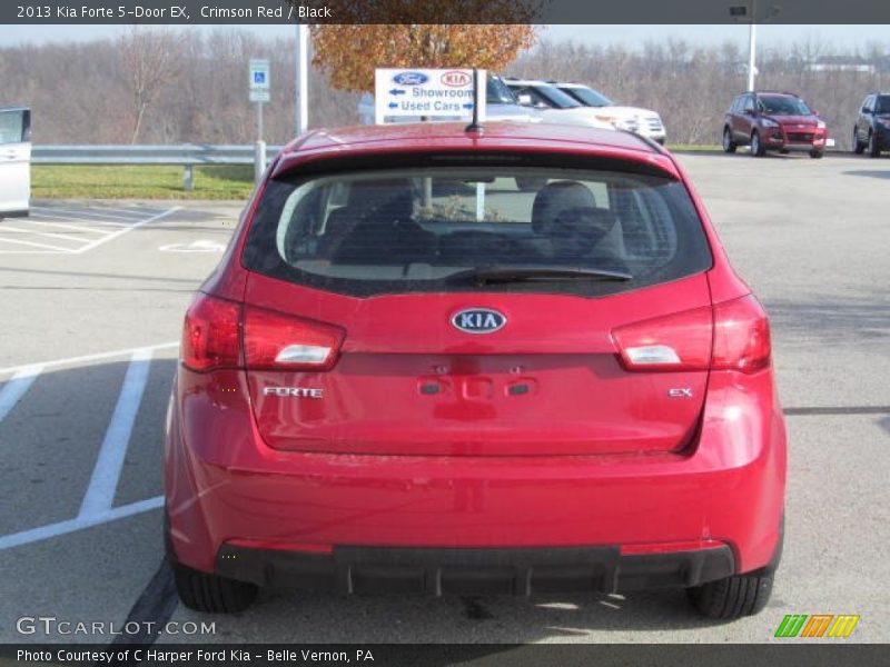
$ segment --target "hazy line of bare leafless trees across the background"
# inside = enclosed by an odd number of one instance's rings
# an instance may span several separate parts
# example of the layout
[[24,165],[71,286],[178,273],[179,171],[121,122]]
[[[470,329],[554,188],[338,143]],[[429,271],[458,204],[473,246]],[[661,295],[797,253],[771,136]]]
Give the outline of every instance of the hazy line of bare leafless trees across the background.
[[[30,104],[39,143],[248,143],[250,58],[271,62],[266,140],[294,135],[294,40],[220,29],[141,29],[122,40],[0,47],[0,106]],[[866,63],[868,68],[857,68]],[[818,68],[812,67],[819,64]],[[792,90],[814,106],[840,148],[867,92],[890,88],[884,44],[837,48],[813,39],[758,54],[758,87]],[[663,40],[640,47],[544,41],[507,73],[587,83],[620,103],[659,111],[671,143],[720,141],[723,113],[744,90],[746,53],[732,44]],[[309,70],[310,127],[353,125],[358,94]]]

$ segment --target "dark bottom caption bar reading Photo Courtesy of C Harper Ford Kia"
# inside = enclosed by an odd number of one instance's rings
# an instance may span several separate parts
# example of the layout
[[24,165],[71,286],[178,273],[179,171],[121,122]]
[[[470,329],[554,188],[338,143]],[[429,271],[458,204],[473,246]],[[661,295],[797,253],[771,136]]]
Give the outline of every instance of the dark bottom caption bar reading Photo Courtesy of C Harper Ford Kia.
[[[298,631],[295,629],[295,631]],[[843,641],[843,640],[841,640]],[[887,646],[839,644],[760,645],[513,645],[513,644],[156,644],[0,645],[0,665],[65,667],[883,667]]]

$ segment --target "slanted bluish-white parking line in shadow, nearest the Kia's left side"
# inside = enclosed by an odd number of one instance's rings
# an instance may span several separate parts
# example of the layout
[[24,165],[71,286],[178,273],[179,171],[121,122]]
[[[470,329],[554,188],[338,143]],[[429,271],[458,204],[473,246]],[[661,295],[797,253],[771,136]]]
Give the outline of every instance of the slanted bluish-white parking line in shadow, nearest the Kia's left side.
[[108,512],[115,502],[118,479],[123,468],[123,459],[127,457],[136,415],[142,402],[150,366],[151,350],[141,349],[132,354],[78,518]]

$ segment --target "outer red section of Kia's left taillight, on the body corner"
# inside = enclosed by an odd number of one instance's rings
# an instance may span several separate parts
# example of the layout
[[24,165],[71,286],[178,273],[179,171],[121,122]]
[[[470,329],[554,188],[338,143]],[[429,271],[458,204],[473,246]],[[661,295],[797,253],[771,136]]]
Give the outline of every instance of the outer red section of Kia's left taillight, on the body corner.
[[182,365],[198,371],[239,367],[240,310],[233,301],[198,293],[182,327]]

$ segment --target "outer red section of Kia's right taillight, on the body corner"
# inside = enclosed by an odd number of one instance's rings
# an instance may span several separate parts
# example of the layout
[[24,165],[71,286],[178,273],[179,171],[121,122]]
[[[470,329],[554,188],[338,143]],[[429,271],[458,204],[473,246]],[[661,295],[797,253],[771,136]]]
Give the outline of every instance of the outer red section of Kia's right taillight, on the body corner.
[[711,368],[755,372],[770,365],[770,323],[753,295],[714,306]]

